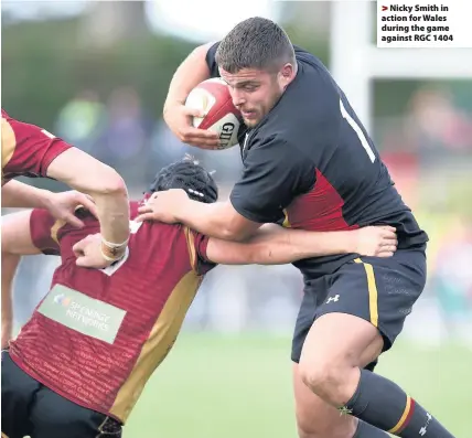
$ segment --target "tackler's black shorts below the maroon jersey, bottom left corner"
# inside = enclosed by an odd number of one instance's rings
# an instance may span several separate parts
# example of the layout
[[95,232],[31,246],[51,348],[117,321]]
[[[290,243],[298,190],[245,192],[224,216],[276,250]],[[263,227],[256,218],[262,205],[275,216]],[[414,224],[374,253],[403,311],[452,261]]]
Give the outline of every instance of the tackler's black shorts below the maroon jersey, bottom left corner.
[[120,438],[121,425],[54,393],[2,351],[1,431],[8,438]]

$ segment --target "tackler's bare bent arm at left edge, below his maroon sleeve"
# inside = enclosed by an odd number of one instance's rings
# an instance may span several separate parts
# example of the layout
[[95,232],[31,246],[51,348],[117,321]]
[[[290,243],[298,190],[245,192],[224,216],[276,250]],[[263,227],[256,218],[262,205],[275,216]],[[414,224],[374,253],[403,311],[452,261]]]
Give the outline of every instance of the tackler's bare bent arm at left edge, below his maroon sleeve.
[[22,255],[40,254],[30,231],[32,212],[2,216],[1,225],[1,348],[8,345],[12,336],[13,308],[12,284]]

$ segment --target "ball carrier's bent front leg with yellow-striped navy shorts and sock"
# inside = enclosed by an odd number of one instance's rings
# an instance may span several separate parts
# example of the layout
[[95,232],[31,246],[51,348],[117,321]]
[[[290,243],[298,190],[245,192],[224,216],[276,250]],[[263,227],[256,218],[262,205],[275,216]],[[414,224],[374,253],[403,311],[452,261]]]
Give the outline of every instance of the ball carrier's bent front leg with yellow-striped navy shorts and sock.
[[379,331],[387,349],[401,331],[425,285],[423,255],[400,250],[386,261],[357,261],[333,276],[320,317],[303,344],[301,378],[332,406],[383,430],[404,438],[452,437],[399,386],[360,368],[362,355],[377,342]]

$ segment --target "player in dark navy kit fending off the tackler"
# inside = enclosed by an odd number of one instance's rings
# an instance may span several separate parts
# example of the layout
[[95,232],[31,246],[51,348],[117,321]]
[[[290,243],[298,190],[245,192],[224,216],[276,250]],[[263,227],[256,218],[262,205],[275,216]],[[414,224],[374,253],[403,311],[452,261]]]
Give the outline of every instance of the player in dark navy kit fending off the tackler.
[[[229,201],[213,205],[196,204],[183,191],[158,193],[141,218],[181,222],[232,241],[277,221],[311,231],[395,226],[399,250],[391,258],[344,254],[294,264],[304,278],[291,354],[299,435],[451,437],[398,385],[373,372],[423,290],[428,236],[346,96],[320,60],[293,46],[280,26],[245,20],[221,42],[192,52],[170,85],[168,125],[203,148],[218,140],[189,126],[184,102],[215,76],[228,84],[248,128],[240,138],[240,180]],[[374,427],[367,430],[354,417]]]

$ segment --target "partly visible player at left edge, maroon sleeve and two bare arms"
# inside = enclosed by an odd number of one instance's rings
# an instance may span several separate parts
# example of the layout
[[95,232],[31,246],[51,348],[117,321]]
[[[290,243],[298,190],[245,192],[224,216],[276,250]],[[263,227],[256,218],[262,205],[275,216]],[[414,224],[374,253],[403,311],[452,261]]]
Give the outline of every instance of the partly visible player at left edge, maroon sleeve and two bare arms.
[[[69,194],[64,210],[57,197],[11,179],[20,175],[46,177],[93,196],[101,225],[103,242],[94,243],[87,257],[77,259],[81,266],[105,267],[122,256],[129,238],[128,192],[121,177],[110,167],[72,147],[37,126],[11,118],[1,110],[2,207],[47,207],[58,218],[81,222],[71,205],[82,203],[94,209],[84,194]],[[6,185],[3,185],[6,184]]]

